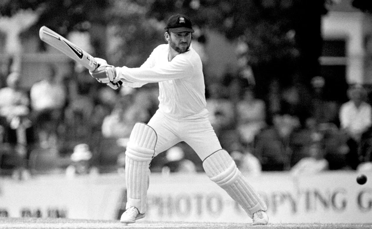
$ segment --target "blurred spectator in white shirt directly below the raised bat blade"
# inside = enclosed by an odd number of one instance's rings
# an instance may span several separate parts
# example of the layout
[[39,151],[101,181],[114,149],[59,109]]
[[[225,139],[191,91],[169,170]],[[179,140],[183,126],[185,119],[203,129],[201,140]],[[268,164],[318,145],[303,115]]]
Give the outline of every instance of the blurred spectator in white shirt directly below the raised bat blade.
[[56,70],[48,67],[46,78],[32,85],[30,91],[33,122],[42,147],[57,141],[57,128],[66,103],[65,88],[56,79]]

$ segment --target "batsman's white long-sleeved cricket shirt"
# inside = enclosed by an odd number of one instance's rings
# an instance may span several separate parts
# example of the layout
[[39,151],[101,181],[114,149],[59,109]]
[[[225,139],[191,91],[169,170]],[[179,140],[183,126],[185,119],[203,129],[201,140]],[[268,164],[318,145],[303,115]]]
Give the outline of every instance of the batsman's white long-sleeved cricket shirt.
[[157,46],[140,68],[119,67],[119,79],[131,83],[159,83],[159,110],[173,118],[206,117],[205,84],[202,61],[189,51],[168,61],[169,45]]

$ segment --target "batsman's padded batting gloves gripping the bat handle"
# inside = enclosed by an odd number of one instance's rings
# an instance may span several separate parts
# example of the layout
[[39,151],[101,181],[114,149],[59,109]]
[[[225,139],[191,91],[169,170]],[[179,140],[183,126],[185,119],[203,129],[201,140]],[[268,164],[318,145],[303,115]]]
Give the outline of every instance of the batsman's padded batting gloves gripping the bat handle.
[[121,81],[116,78],[116,70],[112,65],[108,65],[106,60],[101,58],[94,58],[97,62],[97,68],[94,71],[89,71],[98,82],[107,84],[113,89],[118,89],[121,85]]

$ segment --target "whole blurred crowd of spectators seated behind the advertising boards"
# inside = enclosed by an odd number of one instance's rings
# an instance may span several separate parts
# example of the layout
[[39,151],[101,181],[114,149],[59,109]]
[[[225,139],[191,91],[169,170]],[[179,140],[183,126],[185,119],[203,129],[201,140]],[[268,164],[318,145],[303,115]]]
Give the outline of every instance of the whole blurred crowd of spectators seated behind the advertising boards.
[[[158,107],[158,86],[112,90],[75,62],[57,78],[54,65],[29,90],[21,75],[0,75],[0,171],[32,174],[124,172],[125,148],[135,122],[150,120]],[[325,101],[322,77],[312,91],[270,82],[259,99],[241,75],[206,80],[209,119],[242,172],[371,169],[372,108],[366,88],[350,85],[349,101]],[[301,98],[305,98],[305,101]],[[201,172],[201,160],[184,142],[160,153],[153,172]]]

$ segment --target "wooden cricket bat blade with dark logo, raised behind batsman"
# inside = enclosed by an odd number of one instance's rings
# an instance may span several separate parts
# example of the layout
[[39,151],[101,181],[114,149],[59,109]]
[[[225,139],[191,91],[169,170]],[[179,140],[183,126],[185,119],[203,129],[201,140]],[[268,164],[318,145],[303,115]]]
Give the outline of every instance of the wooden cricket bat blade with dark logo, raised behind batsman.
[[97,62],[94,60],[92,55],[48,27],[42,26],[40,28],[39,37],[42,41],[74,59],[90,71],[94,71],[97,68]]

